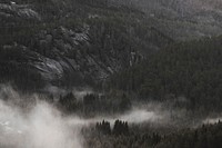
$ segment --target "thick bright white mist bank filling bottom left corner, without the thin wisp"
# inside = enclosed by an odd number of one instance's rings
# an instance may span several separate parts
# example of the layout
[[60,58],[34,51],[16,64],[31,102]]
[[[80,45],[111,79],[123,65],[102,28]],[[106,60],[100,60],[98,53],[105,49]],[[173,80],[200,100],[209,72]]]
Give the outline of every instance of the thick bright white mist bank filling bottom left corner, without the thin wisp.
[[82,148],[78,125],[44,102],[29,114],[0,101],[0,147],[9,148]]

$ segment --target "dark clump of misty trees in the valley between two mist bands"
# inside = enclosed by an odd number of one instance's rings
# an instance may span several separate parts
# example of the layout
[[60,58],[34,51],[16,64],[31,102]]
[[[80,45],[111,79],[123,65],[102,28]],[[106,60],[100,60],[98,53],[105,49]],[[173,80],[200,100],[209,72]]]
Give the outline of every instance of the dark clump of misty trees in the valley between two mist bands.
[[87,93],[82,99],[77,99],[70,92],[60,96],[58,106],[69,114],[79,114],[91,117],[97,115],[123,114],[131,109],[131,100],[124,93],[98,95]]

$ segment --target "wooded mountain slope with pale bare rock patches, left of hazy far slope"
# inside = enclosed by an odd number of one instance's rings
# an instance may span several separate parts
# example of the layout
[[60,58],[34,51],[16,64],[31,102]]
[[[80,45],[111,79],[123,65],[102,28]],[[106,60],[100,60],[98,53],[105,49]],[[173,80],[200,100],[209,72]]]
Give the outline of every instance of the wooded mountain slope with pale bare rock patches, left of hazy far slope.
[[172,41],[143,18],[100,1],[1,2],[1,80],[24,88],[94,85]]

